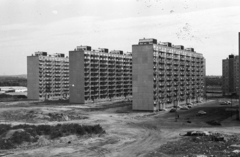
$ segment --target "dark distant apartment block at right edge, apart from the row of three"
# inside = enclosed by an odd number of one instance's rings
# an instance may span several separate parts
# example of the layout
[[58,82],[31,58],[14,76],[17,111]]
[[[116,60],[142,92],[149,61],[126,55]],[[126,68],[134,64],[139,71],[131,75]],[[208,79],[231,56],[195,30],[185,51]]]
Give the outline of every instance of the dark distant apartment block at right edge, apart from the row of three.
[[222,60],[223,95],[239,94],[239,57],[229,55]]

